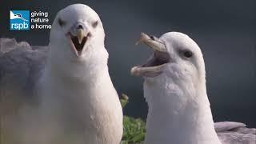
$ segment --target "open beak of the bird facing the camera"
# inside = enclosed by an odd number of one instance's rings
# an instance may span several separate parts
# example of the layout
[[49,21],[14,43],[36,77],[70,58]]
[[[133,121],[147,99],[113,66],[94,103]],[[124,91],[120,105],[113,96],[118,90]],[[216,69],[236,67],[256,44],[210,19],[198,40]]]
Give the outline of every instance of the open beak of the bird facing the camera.
[[66,35],[70,40],[71,49],[74,51],[74,54],[78,57],[81,56],[82,50],[89,38],[89,33],[86,33],[82,28],[78,28],[76,29],[76,35],[71,32]]

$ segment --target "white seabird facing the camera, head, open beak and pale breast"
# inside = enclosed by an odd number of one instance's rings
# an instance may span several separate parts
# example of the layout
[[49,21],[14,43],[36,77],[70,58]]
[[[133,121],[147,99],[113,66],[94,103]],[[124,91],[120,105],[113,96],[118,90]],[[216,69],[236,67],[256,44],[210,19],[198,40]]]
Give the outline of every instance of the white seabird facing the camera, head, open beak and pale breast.
[[122,106],[110,79],[104,39],[102,22],[89,6],[74,4],[58,12],[46,65],[35,83],[38,110],[22,110],[26,116],[22,113],[24,123],[18,122],[21,129],[15,129],[20,132],[18,143],[121,141]]

